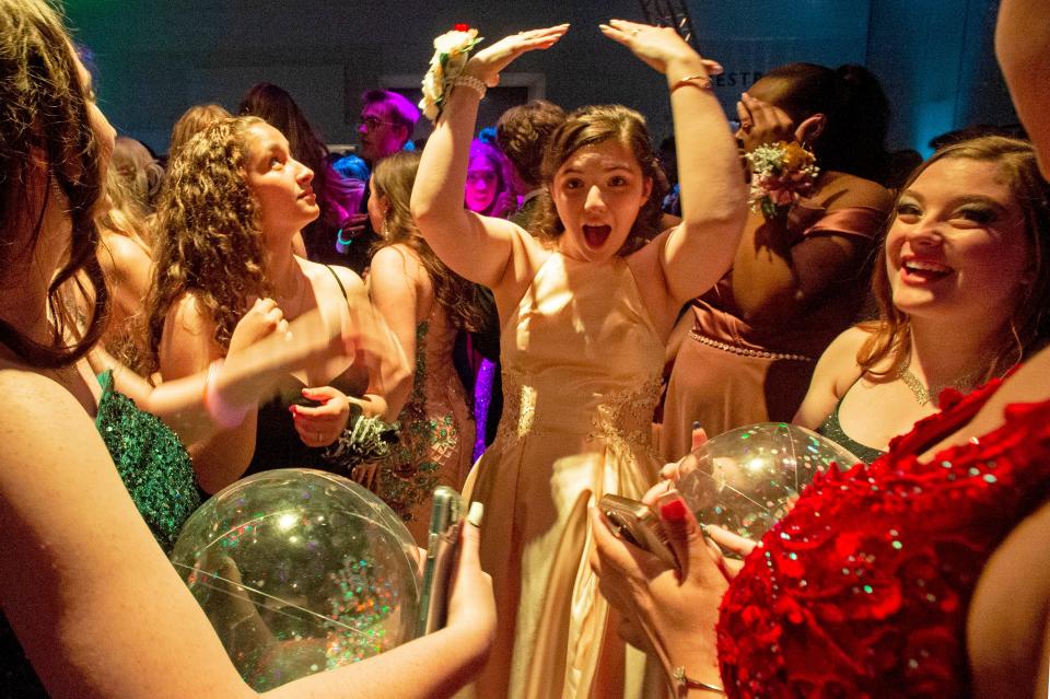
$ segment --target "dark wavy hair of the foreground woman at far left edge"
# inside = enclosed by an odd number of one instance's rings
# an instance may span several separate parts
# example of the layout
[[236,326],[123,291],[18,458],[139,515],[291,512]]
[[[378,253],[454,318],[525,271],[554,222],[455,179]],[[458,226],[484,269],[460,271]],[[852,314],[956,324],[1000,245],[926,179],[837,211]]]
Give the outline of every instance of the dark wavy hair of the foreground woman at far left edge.
[[[36,342],[0,321],[0,342],[34,366],[62,366],[83,357],[108,316],[94,222],[105,173],[89,98],[58,11],[43,0],[0,0],[0,278],[27,264],[50,197],[65,199],[72,224],[68,259],[48,288],[50,341]],[[80,327],[71,296],[63,293],[67,284],[80,286],[81,298],[93,300]]]

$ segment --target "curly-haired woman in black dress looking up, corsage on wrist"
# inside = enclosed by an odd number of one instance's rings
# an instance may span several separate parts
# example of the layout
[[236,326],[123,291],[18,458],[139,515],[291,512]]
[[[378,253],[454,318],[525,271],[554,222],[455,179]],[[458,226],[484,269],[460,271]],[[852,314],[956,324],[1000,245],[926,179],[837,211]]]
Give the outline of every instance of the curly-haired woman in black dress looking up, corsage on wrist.
[[318,214],[312,182],[288,140],[257,117],[212,124],[170,165],[147,303],[149,351],[165,381],[223,357],[233,327],[262,296],[285,318],[319,308],[362,333],[353,361],[332,356],[285,376],[278,395],[237,427],[191,447],[208,492],[290,466],[363,479],[353,471],[357,457],[385,451],[382,419],[394,415],[386,396],[397,403],[409,389],[404,354],[361,279],[292,252]]

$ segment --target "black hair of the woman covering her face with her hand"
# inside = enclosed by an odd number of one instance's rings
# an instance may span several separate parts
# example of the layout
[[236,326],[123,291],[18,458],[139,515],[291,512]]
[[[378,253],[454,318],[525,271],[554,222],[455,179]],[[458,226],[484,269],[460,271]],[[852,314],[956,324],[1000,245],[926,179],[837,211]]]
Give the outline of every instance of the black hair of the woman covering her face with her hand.
[[822,170],[875,182],[886,178],[889,100],[866,68],[788,63],[765,73],[762,80],[783,81],[774,102],[796,125],[814,114],[827,117],[824,130],[809,143]]

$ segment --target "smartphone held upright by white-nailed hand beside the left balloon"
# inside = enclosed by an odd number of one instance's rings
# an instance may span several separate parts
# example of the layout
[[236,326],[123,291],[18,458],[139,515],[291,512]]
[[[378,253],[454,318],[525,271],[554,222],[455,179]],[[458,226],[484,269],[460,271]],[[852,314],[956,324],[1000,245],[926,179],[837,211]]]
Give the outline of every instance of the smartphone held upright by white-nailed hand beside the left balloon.
[[459,519],[463,500],[447,486],[434,489],[434,509],[427,536],[427,562],[423,567],[423,596],[419,601],[416,636],[425,636],[445,626],[448,582],[459,545]]

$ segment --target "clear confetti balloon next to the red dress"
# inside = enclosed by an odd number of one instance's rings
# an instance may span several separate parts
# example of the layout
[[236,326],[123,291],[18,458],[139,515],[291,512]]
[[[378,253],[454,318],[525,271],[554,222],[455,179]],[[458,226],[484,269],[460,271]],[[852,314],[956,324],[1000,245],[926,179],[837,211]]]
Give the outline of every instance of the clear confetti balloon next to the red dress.
[[678,490],[701,523],[759,539],[817,471],[860,461],[805,428],[759,422],[723,432],[687,456]]

